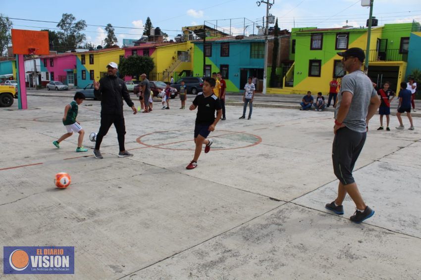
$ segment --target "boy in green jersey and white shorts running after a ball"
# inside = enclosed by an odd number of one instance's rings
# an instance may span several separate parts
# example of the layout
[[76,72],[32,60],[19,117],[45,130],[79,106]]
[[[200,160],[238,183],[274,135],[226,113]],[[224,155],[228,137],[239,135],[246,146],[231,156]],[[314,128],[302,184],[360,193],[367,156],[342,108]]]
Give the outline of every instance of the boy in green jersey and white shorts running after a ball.
[[83,93],[76,93],[73,97],[73,101],[70,104],[67,104],[64,107],[64,116],[63,116],[63,125],[66,127],[67,133],[63,134],[58,140],[53,141],[54,146],[57,148],[60,147],[59,143],[62,140],[65,140],[72,136],[73,132],[79,133],[79,137],[77,139],[77,148],[76,152],[86,152],[88,149],[85,149],[82,146],[83,136],[85,135],[85,131],[80,126],[80,123],[76,121],[77,112],[78,112],[78,105],[82,104],[83,100],[85,100],[85,94]]

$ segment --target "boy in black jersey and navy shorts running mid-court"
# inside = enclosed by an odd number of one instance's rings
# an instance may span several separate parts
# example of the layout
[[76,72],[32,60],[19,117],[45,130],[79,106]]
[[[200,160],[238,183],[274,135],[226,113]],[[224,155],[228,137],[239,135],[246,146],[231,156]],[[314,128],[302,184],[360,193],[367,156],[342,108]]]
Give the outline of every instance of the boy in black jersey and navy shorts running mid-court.
[[[186,169],[193,169],[197,166],[197,160],[202,152],[202,146],[205,144],[205,153],[211,149],[212,140],[206,139],[211,131],[215,130],[215,126],[222,116],[222,107],[219,98],[213,94],[215,87],[213,78],[206,78],[203,83],[203,93],[198,93],[190,105],[190,110],[198,108],[195,125],[195,155],[193,160],[187,165]],[[216,111],[216,118],[215,118]]]

